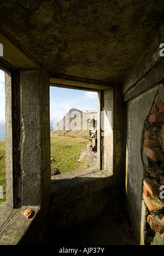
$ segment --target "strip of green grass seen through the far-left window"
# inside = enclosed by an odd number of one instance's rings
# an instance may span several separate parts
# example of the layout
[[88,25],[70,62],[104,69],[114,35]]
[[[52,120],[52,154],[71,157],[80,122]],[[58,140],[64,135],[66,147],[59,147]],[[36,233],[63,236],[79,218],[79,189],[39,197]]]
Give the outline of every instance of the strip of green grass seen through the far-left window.
[[3,188],[3,199],[0,205],[6,201],[6,181],[5,181],[5,141],[0,141],[0,186]]

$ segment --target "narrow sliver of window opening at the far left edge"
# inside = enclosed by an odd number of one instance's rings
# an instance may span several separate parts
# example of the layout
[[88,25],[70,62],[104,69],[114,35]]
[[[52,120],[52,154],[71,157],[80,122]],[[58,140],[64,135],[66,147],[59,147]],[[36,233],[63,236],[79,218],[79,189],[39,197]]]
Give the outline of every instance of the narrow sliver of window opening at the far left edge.
[[0,69],[0,205],[6,201],[5,176],[5,79]]

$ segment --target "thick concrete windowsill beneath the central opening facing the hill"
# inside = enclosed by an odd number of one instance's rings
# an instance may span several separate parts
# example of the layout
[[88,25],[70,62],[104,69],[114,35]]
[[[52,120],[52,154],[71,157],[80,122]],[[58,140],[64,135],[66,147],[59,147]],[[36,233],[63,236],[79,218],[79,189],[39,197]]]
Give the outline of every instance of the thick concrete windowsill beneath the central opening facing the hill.
[[51,177],[53,203],[69,202],[108,188],[113,184],[113,175],[98,168],[87,168]]

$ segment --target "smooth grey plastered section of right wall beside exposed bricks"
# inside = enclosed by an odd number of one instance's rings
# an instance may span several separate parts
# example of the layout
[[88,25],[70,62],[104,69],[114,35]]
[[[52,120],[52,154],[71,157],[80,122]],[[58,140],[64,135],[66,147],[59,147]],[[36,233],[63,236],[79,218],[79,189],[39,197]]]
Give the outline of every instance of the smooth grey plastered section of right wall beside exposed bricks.
[[157,89],[151,89],[127,103],[126,193],[138,237],[143,233],[142,212],[143,216],[145,214],[142,203],[143,163],[140,153],[142,132]]

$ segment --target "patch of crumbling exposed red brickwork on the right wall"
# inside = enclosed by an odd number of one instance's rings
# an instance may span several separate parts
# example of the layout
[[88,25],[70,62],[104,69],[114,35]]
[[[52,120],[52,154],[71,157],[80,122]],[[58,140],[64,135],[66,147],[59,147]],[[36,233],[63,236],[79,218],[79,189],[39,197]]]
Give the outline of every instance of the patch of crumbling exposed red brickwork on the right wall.
[[[164,104],[163,86],[157,93],[143,132],[143,200],[147,206],[145,241],[152,245],[164,245],[164,199],[161,185],[164,185]],[[164,192],[163,192],[164,195]],[[149,229],[149,228],[148,228]],[[148,235],[149,234],[149,235]]]

